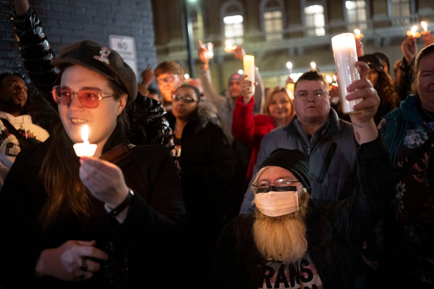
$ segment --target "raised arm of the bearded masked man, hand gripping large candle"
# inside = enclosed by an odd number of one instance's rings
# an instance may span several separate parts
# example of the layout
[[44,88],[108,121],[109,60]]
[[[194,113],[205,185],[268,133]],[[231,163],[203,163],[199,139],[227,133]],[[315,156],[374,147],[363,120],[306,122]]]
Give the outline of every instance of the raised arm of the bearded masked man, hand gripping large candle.
[[[394,195],[394,167],[389,161],[388,152],[382,142],[373,120],[380,99],[366,79],[368,66],[356,62],[360,67],[360,77],[348,86],[348,100],[363,98],[355,105],[362,112],[350,115],[357,149],[357,179],[355,189],[348,198],[325,207],[335,229],[343,240],[360,240],[391,203]],[[357,89],[357,90],[356,90]]]

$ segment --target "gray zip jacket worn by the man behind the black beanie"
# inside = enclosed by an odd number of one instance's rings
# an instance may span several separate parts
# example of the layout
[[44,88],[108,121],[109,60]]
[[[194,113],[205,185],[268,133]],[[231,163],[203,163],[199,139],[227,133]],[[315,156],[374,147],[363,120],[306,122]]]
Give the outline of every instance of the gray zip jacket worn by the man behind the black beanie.
[[[276,148],[298,149],[309,158],[310,182],[314,204],[342,200],[354,189],[356,179],[356,151],[354,131],[349,122],[338,118],[330,108],[329,119],[315,131],[311,140],[297,121],[297,115],[280,128],[270,131],[261,141],[253,177],[262,161]],[[253,180],[252,180],[253,181]],[[240,213],[253,210],[250,187],[244,195]]]

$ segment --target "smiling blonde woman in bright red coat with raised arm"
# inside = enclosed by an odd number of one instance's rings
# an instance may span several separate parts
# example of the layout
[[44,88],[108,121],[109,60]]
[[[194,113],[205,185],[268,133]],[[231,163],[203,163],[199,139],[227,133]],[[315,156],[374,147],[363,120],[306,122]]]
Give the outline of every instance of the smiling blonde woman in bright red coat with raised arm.
[[240,139],[253,149],[246,174],[247,181],[250,181],[252,177],[263,136],[274,128],[288,124],[295,114],[292,93],[282,86],[276,86],[267,94],[264,105],[265,113],[253,115],[255,99],[252,95],[244,93],[249,86],[250,82],[246,81],[242,96],[235,102],[232,119],[233,137]]

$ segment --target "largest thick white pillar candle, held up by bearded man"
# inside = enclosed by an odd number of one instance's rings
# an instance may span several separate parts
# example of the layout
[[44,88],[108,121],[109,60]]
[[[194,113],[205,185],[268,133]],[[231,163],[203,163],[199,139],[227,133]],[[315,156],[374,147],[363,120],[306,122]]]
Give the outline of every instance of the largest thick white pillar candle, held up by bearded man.
[[339,92],[341,96],[342,112],[349,114],[354,111],[353,106],[363,99],[348,101],[346,96],[347,87],[352,82],[360,79],[355,62],[357,61],[357,51],[353,33],[343,33],[332,38],[333,56],[335,57],[336,71],[339,77]]

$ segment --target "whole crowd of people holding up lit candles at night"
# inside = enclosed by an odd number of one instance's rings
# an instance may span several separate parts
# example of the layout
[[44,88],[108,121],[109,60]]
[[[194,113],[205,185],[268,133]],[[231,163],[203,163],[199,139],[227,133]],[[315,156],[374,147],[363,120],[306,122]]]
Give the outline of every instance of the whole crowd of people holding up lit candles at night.
[[312,62],[273,88],[226,41],[243,74],[220,95],[212,43],[200,79],[167,61],[138,83],[92,40],[53,52],[27,0],[15,8],[56,118],[48,138],[20,124],[24,78],[0,75],[0,288],[434,288],[426,22],[396,62],[355,30],[331,39],[334,81]]

